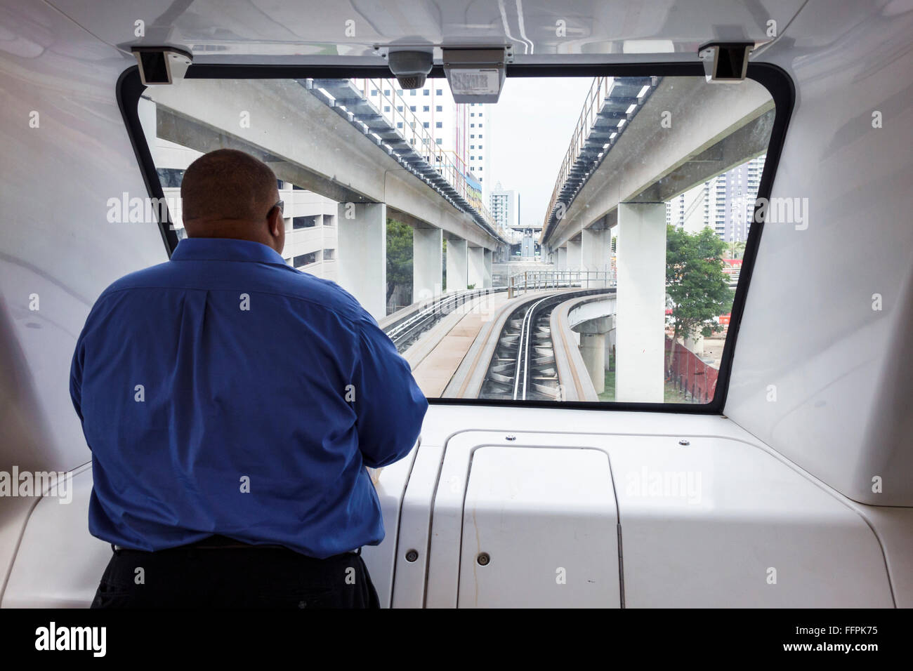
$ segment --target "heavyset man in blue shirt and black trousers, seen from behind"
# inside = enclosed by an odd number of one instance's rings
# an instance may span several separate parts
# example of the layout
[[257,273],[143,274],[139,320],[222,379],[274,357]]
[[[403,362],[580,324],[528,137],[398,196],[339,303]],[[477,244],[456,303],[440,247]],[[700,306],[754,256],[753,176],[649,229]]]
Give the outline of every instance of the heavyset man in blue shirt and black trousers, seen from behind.
[[377,605],[365,467],[412,450],[425,396],[358,301],[280,256],[265,163],[207,153],[181,197],[188,237],[105,289],[73,356],[114,547],[93,607]]

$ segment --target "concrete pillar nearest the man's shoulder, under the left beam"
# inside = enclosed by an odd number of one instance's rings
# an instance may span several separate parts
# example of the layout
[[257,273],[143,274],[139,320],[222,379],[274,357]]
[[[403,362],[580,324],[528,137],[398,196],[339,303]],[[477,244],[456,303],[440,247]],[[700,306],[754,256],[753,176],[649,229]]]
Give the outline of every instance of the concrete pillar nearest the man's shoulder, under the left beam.
[[375,320],[387,314],[387,206],[340,203],[337,210],[340,286]]

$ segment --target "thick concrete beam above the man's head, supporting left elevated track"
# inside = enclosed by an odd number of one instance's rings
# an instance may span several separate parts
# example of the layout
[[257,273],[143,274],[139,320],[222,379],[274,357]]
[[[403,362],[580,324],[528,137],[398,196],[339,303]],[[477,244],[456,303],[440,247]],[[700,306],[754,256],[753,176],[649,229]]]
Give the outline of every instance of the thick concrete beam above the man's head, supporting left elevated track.
[[[498,245],[293,79],[188,79],[146,93],[157,105],[160,138],[199,152],[239,149],[268,163],[279,179],[339,203],[386,203],[392,215],[413,216],[477,246]],[[249,120],[243,127],[242,110]]]

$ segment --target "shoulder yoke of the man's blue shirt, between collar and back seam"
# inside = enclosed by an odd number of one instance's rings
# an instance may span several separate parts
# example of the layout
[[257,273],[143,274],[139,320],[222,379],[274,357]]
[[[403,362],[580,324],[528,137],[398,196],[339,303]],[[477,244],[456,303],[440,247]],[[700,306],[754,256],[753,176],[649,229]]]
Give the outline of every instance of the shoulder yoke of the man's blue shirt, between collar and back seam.
[[[178,262],[180,263],[180,262]],[[136,270],[112,282],[98,302],[131,290],[160,289],[245,291],[250,294],[282,296],[307,303],[311,309],[329,310],[352,322],[373,320],[362,305],[331,279],[318,278],[290,266],[278,264],[231,265],[231,273],[201,278],[175,262],[165,261]]]

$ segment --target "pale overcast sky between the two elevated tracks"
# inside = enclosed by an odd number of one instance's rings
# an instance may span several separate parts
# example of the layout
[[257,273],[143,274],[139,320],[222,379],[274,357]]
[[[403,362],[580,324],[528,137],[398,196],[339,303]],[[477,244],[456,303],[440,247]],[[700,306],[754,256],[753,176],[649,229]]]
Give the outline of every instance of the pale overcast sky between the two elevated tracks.
[[[541,225],[592,77],[508,78],[488,117],[488,189],[519,192],[523,225]],[[488,182],[488,180],[491,180]]]

